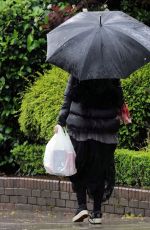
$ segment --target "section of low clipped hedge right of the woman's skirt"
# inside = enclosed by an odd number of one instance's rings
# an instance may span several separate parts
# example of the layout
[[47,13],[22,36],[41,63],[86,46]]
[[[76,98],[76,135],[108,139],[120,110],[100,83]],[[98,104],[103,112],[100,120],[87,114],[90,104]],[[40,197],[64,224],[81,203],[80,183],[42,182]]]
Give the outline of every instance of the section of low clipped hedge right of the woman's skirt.
[[150,152],[117,149],[115,154],[116,183],[150,187]]

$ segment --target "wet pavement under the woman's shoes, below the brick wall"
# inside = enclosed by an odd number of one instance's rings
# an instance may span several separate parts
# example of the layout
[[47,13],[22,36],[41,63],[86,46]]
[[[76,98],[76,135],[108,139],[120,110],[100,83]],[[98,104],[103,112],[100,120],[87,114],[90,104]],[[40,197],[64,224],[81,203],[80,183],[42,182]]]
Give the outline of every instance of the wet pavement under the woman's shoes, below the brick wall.
[[46,230],[46,229],[101,229],[101,230],[150,230],[149,217],[122,217],[104,214],[102,225],[91,225],[88,220],[72,223],[73,213],[65,211],[0,211],[0,230]]

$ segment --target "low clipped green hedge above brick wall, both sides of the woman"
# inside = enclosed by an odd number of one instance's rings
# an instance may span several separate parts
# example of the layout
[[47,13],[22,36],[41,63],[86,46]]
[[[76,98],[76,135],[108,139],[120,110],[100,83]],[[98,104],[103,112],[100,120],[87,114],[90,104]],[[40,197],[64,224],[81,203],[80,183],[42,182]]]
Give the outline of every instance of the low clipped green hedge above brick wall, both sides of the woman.
[[[45,175],[43,156],[45,146],[20,145],[12,150],[20,175]],[[150,151],[117,149],[115,152],[116,184],[150,187]]]

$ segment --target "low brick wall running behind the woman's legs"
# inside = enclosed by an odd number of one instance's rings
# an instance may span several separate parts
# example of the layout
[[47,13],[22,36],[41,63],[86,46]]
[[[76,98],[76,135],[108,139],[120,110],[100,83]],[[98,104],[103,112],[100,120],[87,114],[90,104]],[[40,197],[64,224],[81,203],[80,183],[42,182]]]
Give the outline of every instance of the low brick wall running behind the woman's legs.
[[[76,195],[68,181],[0,177],[0,209],[74,211]],[[88,199],[88,208],[92,201]],[[115,187],[103,212],[150,216],[150,190]]]

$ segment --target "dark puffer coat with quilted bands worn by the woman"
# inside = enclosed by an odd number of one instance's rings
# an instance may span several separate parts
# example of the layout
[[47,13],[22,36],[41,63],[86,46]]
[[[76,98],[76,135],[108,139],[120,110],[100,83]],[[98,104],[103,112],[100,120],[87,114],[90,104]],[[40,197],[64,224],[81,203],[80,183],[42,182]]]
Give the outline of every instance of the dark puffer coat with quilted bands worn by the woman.
[[116,133],[120,127],[118,111],[122,104],[123,93],[119,80],[81,83],[71,76],[58,124],[75,132]]

